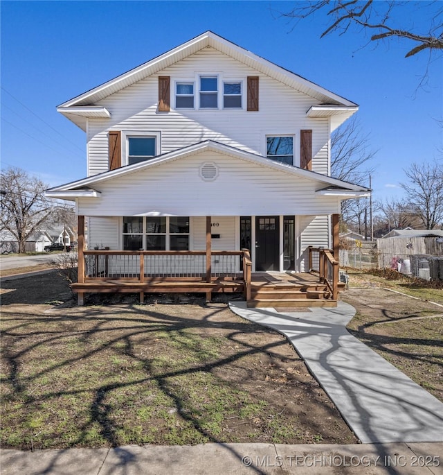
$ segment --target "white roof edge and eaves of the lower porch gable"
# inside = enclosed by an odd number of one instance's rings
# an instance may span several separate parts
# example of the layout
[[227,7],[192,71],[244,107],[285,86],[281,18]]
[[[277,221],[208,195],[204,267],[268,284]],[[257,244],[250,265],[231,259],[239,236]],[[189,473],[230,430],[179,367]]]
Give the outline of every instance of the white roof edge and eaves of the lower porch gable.
[[362,195],[369,196],[368,193],[370,192],[370,189],[368,188],[344,182],[342,180],[338,180],[321,173],[316,173],[314,171],[308,171],[305,169],[300,169],[296,166],[275,162],[271,159],[262,157],[261,155],[239,150],[238,148],[220,144],[219,142],[211,140],[199,142],[198,144],[183,147],[179,150],[173,150],[172,152],[159,155],[158,157],[154,157],[153,159],[147,160],[145,162],[122,166],[118,169],[105,171],[88,178],[83,178],[82,180],[62,184],[58,187],[48,189],[45,192],[45,195],[51,198],[71,200],[81,197],[97,198],[100,196],[100,191],[97,191],[93,187],[100,184],[100,182],[113,180],[129,173],[136,173],[137,171],[154,168],[168,162],[174,162],[174,160],[178,160],[183,157],[189,157],[190,155],[204,152],[218,152],[224,155],[235,157],[237,159],[242,159],[246,162],[255,163],[263,167],[275,169],[284,173],[289,173],[291,175],[296,175],[300,178],[314,180],[318,183],[319,187],[317,193],[324,196],[341,196],[342,198],[356,198]]

